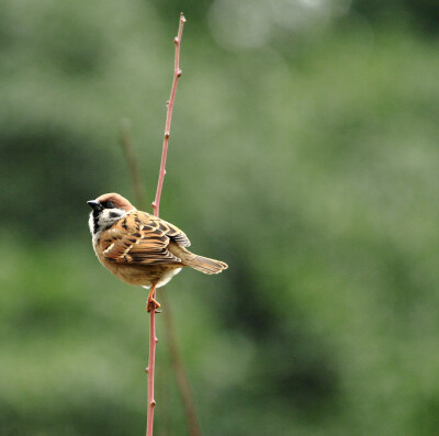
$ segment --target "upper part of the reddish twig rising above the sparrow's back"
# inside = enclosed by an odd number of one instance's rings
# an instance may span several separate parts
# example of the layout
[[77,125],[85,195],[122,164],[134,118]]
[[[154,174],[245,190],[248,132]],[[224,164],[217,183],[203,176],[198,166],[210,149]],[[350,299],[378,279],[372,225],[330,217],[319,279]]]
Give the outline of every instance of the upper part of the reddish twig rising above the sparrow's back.
[[177,83],[178,83],[178,79],[182,72],[180,69],[180,45],[181,45],[181,36],[183,34],[184,23],[185,23],[185,18],[184,18],[183,13],[181,12],[178,34],[173,38],[173,42],[176,44],[176,60],[175,60],[175,67],[173,67],[173,81],[172,81],[171,94],[169,97],[169,100],[167,101],[168,110],[167,110],[167,114],[166,114],[166,126],[165,126],[165,136],[164,136],[164,148],[161,152],[160,172],[158,176],[156,199],[154,200],[154,202],[151,204],[154,214],[156,216],[159,215],[161,189],[164,187],[164,180],[165,180],[165,175],[166,175],[166,156],[168,154],[168,143],[169,143],[169,136],[170,136],[170,131],[171,131],[173,102],[176,101]]

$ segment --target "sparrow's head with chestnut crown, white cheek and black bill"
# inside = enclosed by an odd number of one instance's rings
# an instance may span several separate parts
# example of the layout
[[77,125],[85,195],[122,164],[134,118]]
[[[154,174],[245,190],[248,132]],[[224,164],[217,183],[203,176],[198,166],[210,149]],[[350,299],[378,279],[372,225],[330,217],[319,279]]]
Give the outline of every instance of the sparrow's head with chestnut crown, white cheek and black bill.
[[119,193],[104,193],[87,204],[93,210],[90,213],[89,226],[92,235],[111,227],[131,211],[135,211],[133,204]]

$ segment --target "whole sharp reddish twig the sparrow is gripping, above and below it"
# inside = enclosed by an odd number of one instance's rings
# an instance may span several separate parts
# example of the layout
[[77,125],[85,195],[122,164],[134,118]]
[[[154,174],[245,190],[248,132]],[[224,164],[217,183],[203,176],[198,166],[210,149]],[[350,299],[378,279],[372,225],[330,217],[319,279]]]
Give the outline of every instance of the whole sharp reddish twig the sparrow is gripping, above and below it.
[[[158,177],[156,199],[153,202],[153,210],[156,216],[159,215],[160,208],[160,197],[161,189],[164,187],[165,174],[166,174],[166,156],[168,153],[168,143],[169,143],[169,134],[171,128],[171,120],[172,120],[172,109],[173,102],[176,100],[177,92],[177,82],[179,77],[181,76],[180,70],[180,43],[181,35],[183,33],[183,25],[185,23],[185,19],[183,13],[180,14],[179,30],[178,35],[173,40],[176,43],[176,62],[175,62],[175,70],[173,70],[173,81],[171,88],[171,96],[168,101],[168,111],[166,115],[166,127],[165,127],[165,139],[164,139],[164,148],[161,152],[161,164],[160,164],[160,172]],[[153,299],[156,297],[156,290],[153,291]],[[154,370],[155,370],[155,359],[156,359],[156,311],[153,309],[149,312],[149,362],[148,362],[148,416],[147,416],[147,425],[146,425],[146,436],[153,436],[153,425],[154,425],[154,407],[156,405],[156,401],[154,400]]]

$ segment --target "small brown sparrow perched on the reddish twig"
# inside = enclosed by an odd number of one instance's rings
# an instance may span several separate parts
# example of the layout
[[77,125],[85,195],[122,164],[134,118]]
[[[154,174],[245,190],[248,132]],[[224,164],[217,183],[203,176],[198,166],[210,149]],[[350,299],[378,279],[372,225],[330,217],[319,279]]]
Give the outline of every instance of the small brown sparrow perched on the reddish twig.
[[213,275],[227,264],[194,255],[188,236],[177,226],[138,211],[119,193],[87,202],[93,210],[89,227],[101,264],[128,284],[150,289],[147,310],[160,308],[154,291],[169,282],[182,267]]

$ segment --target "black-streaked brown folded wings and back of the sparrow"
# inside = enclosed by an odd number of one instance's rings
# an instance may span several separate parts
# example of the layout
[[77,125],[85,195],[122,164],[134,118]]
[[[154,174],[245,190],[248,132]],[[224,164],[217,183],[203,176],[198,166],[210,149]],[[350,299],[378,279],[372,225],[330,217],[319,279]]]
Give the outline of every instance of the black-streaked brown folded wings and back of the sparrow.
[[105,232],[101,248],[106,260],[119,264],[180,264],[168,250],[170,239],[188,247],[187,235],[175,225],[149,213],[134,211]]

